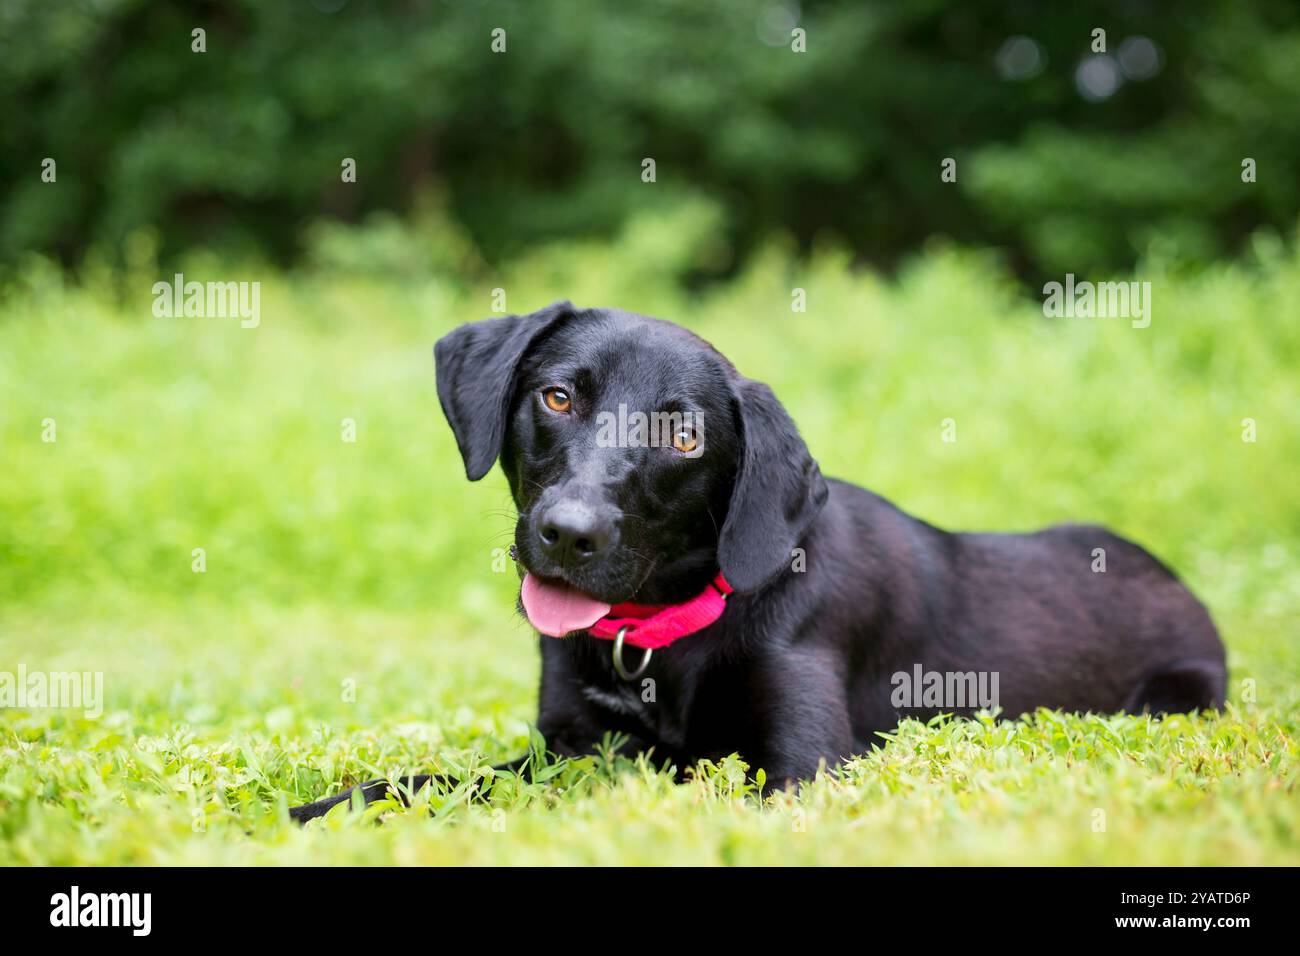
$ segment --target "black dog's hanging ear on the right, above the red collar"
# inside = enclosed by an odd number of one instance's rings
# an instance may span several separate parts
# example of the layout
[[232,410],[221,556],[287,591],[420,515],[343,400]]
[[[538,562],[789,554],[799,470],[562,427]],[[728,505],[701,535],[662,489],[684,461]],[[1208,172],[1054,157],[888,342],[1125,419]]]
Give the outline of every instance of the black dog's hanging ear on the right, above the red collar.
[[718,563],[736,591],[754,591],[783,568],[826,503],[822,470],[789,412],[762,382],[736,386],[744,451]]

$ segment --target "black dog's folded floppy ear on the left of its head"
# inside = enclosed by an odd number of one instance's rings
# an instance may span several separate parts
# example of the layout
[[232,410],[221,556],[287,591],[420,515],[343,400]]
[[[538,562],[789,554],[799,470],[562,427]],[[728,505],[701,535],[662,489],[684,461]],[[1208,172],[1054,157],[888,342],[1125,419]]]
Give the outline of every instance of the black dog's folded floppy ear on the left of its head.
[[471,481],[491,471],[500,455],[520,360],[533,342],[573,311],[572,303],[555,302],[529,315],[465,323],[433,346],[438,402]]

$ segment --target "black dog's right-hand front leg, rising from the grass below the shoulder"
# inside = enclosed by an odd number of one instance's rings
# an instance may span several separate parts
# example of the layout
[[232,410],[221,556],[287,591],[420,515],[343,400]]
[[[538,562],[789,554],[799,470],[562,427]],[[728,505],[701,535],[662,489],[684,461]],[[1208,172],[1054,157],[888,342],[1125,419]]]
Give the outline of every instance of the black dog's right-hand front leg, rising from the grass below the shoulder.
[[835,766],[853,750],[844,662],[829,648],[792,645],[757,665],[753,708],[766,790],[786,790],[816,775],[824,760]]

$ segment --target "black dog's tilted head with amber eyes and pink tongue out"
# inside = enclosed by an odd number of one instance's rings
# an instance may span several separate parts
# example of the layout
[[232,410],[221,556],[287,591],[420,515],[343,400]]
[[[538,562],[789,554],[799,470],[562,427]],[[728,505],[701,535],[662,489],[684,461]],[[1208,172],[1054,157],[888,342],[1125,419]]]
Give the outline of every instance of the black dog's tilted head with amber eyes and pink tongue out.
[[465,473],[499,458],[510,480],[543,633],[685,600],[719,568],[760,588],[826,501],[771,389],[671,323],[562,302],[462,325],[434,356]]

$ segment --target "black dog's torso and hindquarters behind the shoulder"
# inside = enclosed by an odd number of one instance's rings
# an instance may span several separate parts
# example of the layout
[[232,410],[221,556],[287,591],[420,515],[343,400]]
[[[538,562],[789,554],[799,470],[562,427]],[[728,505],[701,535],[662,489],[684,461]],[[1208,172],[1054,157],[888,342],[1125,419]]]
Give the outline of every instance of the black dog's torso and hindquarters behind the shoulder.
[[[858,529],[852,542],[835,533],[820,540],[841,551],[823,562],[832,576],[862,581],[852,627],[870,663],[852,693],[871,723],[883,717],[889,680],[916,666],[996,675],[1008,717],[1040,706],[1186,711],[1223,701],[1223,645],[1204,605],[1153,555],[1105,528],[944,532],[840,481],[831,483],[827,520]],[[976,709],[945,701],[890,715]]]

